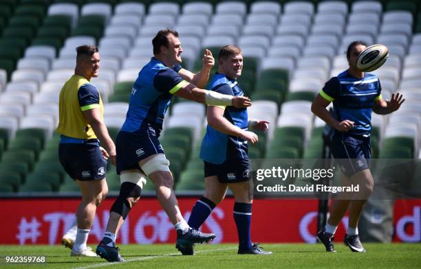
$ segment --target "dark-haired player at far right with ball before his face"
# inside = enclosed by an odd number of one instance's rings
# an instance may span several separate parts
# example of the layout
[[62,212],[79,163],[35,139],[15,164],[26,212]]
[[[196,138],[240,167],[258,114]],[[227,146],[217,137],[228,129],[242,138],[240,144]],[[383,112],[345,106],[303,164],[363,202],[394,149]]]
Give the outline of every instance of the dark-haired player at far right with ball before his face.
[[[312,113],[335,129],[332,137],[332,155],[341,166],[344,186],[359,185],[357,193],[342,193],[332,202],[330,217],[317,238],[327,252],[334,249],[334,233],[349,209],[349,223],[344,243],[353,252],[366,250],[358,236],[358,220],[365,201],[374,187],[369,170],[371,158],[371,113],[385,115],[400,108],[402,95],[392,94],[390,101],[382,100],[380,81],[377,76],[356,69],[358,55],[367,48],[362,41],[354,41],[347,49],[349,68],[326,82],[313,101]],[[334,115],[326,107],[333,102]]]

